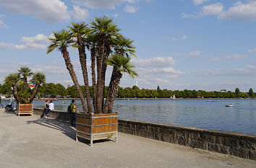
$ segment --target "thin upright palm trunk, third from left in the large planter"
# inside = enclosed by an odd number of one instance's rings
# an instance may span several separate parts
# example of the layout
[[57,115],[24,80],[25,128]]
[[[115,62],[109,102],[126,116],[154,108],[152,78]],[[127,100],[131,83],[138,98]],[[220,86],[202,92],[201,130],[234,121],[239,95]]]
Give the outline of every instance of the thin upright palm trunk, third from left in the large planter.
[[97,90],[96,90],[96,75],[95,75],[95,47],[90,49],[90,61],[91,63],[91,68],[92,68],[92,79],[93,79],[93,108],[96,110],[96,104],[97,104]]

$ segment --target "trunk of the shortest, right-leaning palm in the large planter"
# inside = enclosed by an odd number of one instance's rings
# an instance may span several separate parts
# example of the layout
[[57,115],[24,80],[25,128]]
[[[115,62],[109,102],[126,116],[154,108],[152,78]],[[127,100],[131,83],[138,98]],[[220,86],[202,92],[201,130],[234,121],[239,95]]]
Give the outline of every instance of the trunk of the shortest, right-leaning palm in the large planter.
[[110,102],[109,102],[109,106],[108,106],[108,113],[111,113],[113,110],[114,101],[116,99],[116,95],[118,92],[118,87],[120,84],[121,76],[122,76],[121,72],[117,71],[115,79],[113,81],[113,86],[112,86],[113,90],[111,90],[110,95],[109,95]]

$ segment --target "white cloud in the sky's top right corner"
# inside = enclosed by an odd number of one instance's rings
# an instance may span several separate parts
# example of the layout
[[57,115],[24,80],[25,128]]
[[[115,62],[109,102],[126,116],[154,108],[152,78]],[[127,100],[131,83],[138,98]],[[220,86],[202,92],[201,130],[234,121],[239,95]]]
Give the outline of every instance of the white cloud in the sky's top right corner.
[[256,20],[256,1],[248,1],[247,4],[241,1],[236,2],[227,11],[222,12],[218,18],[234,19],[237,21]]

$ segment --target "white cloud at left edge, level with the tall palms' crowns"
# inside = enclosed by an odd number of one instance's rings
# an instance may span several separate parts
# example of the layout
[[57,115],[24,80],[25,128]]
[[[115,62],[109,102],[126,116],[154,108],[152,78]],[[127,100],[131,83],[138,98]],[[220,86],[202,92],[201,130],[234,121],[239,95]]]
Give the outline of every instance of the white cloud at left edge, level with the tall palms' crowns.
[[43,34],[38,34],[34,37],[22,37],[20,41],[24,44],[21,45],[0,42],[0,48],[8,50],[23,50],[25,48],[46,49],[48,45],[48,37],[50,36]]

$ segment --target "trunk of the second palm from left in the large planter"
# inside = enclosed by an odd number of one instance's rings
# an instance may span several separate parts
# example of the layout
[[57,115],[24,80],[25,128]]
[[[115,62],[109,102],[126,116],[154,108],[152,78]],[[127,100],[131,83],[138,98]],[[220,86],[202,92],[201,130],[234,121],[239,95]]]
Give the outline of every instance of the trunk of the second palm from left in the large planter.
[[85,82],[85,95],[86,95],[88,112],[93,112],[92,105],[90,104],[90,89],[89,89],[88,71],[87,71],[87,65],[86,65],[85,44],[82,43],[82,39],[80,35],[77,35],[77,44],[79,46],[78,52],[79,52],[80,64],[82,68],[82,75]]

